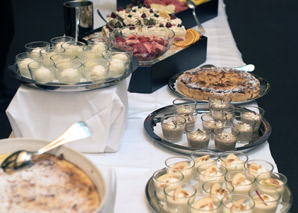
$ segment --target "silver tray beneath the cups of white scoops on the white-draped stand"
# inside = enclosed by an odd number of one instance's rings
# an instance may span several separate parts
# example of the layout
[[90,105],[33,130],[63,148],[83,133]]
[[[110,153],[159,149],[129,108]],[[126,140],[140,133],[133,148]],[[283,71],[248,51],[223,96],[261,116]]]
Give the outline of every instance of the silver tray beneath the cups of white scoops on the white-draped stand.
[[132,66],[130,70],[126,70],[125,73],[118,78],[108,78],[100,81],[88,81],[80,82],[76,84],[63,84],[63,83],[46,83],[41,84],[36,82],[33,79],[24,78],[18,69],[17,63],[15,61],[11,62],[8,66],[9,74],[19,80],[21,83],[39,90],[47,90],[53,92],[80,92],[80,91],[89,91],[95,89],[106,88],[114,86],[120,81],[126,79],[130,74],[132,74],[139,67],[139,61],[137,58],[132,58]]

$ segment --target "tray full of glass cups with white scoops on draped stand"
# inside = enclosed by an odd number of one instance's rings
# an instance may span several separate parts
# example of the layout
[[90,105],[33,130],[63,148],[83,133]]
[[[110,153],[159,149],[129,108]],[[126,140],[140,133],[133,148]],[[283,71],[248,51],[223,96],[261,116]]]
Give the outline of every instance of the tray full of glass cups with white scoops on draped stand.
[[41,90],[76,92],[106,88],[126,79],[139,66],[132,48],[111,46],[102,37],[75,42],[60,36],[50,42],[25,45],[9,73],[23,84]]

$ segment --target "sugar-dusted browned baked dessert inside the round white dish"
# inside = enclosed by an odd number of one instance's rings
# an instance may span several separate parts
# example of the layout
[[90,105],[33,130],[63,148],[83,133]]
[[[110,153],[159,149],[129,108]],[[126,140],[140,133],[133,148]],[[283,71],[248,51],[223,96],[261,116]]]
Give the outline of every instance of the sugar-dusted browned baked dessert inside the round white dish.
[[94,212],[101,202],[96,186],[63,156],[36,156],[30,167],[0,169],[1,212]]

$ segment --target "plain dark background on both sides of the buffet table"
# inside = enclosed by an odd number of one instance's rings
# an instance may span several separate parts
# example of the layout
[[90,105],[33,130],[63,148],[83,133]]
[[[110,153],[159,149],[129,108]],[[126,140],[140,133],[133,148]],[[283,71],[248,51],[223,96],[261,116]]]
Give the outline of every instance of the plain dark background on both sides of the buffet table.
[[[30,41],[62,35],[65,0],[11,0],[14,36],[7,62],[24,51]],[[9,0],[4,1],[7,3]],[[279,171],[289,179],[298,196],[298,1],[297,0],[225,0],[228,20],[237,46],[246,63],[256,66],[256,74],[267,79],[271,91],[258,100],[272,126],[269,143]],[[3,8],[7,8],[5,5]],[[9,10],[8,10],[9,11]],[[4,17],[3,17],[4,16]],[[1,14],[2,20],[9,17]],[[9,21],[9,20],[7,20]],[[1,29],[5,33],[7,29]],[[4,55],[1,55],[4,58]],[[5,84],[15,92],[19,83],[5,74]],[[0,138],[11,132],[4,111],[0,112]],[[293,211],[297,211],[294,203]]]

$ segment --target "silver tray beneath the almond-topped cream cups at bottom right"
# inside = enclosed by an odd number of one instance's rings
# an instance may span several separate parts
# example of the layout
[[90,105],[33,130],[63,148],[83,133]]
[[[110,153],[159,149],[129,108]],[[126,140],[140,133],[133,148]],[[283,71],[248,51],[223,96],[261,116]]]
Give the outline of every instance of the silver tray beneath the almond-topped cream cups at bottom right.
[[[151,177],[145,188],[145,194],[147,202],[153,212],[166,213],[166,204],[164,201],[160,201],[155,194],[155,187],[153,183],[153,178]],[[293,195],[288,186],[285,187],[284,193],[282,195],[282,200],[277,207],[277,212],[286,213],[289,212],[293,204]]]

